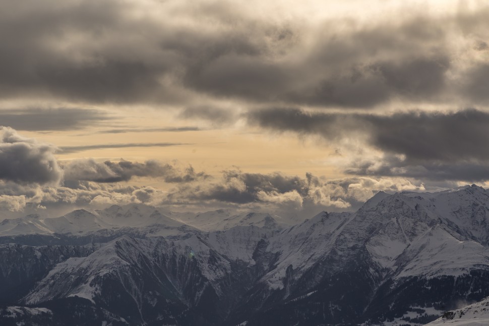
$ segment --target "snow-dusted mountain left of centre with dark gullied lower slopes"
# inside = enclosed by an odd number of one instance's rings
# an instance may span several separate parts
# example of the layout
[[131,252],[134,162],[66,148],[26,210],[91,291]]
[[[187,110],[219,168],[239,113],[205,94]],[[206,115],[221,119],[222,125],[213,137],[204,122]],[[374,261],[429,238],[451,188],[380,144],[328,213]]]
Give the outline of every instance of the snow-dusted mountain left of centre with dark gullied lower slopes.
[[[257,227],[236,227],[205,238],[194,235],[171,241],[123,236],[88,256],[58,263],[23,302],[37,305],[82,298],[134,323],[163,319],[181,323],[179,315],[185,309],[214,315],[209,315],[209,320],[223,318],[231,304],[246,293],[250,278],[254,281],[257,267],[252,256],[266,232]],[[234,275],[243,270],[248,270],[246,278]],[[209,300],[212,307],[206,306]],[[161,311],[167,315],[155,319]]]

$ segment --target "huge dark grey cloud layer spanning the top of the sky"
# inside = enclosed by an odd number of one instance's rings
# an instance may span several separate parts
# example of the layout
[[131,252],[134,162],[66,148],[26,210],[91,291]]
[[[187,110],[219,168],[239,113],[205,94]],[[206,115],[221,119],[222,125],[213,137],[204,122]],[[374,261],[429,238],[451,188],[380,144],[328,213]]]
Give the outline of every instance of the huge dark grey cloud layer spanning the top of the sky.
[[[322,107],[488,100],[487,63],[467,59],[470,51],[487,51],[487,7],[445,18],[337,19],[313,27],[260,19],[237,3],[156,4],[166,16],[156,18],[137,2],[4,2],[0,94],[184,107],[201,95]],[[213,115],[201,107],[182,116],[198,111]]]

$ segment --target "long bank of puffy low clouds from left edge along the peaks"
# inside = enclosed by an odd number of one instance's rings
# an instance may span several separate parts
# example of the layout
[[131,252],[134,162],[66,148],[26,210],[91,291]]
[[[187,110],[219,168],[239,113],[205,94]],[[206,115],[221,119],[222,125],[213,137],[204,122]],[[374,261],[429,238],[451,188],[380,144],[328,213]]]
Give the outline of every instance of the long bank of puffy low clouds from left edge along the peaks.
[[[371,177],[324,180],[282,173],[244,173],[226,170],[211,178],[193,167],[148,160],[96,161],[78,159],[58,166],[55,147],[19,136],[3,127],[0,143],[0,207],[21,211],[28,205],[97,205],[144,202],[153,205],[210,207],[265,207],[285,211],[356,207],[375,191],[423,189],[404,179]],[[63,169],[62,169],[63,168]],[[64,184],[60,185],[64,177]],[[172,184],[161,191],[152,187],[118,185],[134,177],[158,178]],[[190,206],[189,206],[190,205]],[[290,213],[290,211],[287,211]]]

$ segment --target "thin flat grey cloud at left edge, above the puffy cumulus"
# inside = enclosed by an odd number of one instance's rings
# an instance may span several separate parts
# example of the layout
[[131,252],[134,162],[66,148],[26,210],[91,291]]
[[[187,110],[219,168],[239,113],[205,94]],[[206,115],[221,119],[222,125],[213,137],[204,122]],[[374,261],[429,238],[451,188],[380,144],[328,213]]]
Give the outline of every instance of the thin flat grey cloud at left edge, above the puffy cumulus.
[[101,111],[76,107],[0,109],[0,124],[16,130],[73,130],[108,119]]

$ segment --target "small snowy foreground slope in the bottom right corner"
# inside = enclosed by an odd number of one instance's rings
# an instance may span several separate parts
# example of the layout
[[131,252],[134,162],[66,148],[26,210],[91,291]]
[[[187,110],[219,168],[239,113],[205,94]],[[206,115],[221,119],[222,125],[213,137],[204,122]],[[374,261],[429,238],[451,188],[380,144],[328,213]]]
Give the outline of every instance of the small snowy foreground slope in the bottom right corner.
[[487,326],[489,325],[489,299],[471,304],[461,309],[448,311],[442,317],[426,326]]

